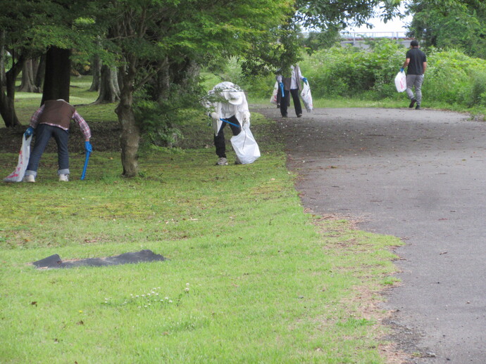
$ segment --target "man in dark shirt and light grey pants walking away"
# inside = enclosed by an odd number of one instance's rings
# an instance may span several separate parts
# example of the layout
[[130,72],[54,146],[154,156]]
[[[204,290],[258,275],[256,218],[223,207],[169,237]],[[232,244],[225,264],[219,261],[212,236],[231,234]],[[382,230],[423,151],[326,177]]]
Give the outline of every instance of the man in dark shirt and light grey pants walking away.
[[[423,74],[427,69],[427,56],[418,48],[418,41],[413,40],[410,43],[410,49],[406,52],[404,65],[400,71],[406,70],[406,94],[409,96],[409,108],[416,105],[416,110],[420,110],[422,103],[422,83]],[[413,95],[412,87],[415,87],[415,95]]]

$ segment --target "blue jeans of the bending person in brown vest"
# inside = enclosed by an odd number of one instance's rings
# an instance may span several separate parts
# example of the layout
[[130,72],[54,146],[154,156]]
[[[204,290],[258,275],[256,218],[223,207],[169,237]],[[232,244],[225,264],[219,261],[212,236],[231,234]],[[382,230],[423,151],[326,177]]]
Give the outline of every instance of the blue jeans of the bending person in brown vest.
[[39,168],[42,153],[46,149],[51,137],[54,137],[57,144],[57,162],[59,166],[57,174],[69,174],[69,131],[58,128],[57,126],[39,124],[35,129],[34,148],[30,152],[29,164],[27,164],[25,176],[29,176],[30,174],[37,176],[37,168]]

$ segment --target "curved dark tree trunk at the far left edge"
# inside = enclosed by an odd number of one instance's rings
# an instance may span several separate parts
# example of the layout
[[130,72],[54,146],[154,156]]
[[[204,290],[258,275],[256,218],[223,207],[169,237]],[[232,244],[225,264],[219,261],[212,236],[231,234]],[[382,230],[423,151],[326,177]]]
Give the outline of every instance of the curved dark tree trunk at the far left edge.
[[22,70],[25,59],[20,56],[17,63],[5,74],[5,86],[0,85],[0,115],[4,119],[5,126],[11,128],[20,126],[17,114],[15,112],[15,79],[17,79],[20,70]]

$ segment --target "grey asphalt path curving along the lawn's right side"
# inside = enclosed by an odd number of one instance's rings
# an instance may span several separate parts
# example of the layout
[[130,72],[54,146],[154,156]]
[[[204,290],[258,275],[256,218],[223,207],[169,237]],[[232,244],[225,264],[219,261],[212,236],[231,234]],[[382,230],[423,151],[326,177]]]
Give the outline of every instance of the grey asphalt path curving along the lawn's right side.
[[306,207],[404,241],[385,308],[406,363],[485,364],[486,123],[409,108],[257,111],[278,120]]

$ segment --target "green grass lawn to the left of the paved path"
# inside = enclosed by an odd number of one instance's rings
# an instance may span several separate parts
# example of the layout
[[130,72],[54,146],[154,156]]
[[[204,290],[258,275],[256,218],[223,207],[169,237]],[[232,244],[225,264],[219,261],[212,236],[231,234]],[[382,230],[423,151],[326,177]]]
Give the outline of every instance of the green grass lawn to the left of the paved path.
[[[84,89],[73,96],[89,100]],[[30,116],[38,101],[22,96]],[[92,115],[113,120],[113,107]],[[252,125],[272,138],[273,122]],[[151,150],[132,179],[119,152],[95,150],[85,181],[84,155],[70,156],[69,183],[44,153],[37,183],[3,183],[1,363],[385,363],[375,303],[394,284],[399,240],[306,213],[283,145],[260,148],[254,164],[227,167],[213,148]],[[15,163],[0,154],[0,175]],[[142,249],[168,260],[31,265]]]

